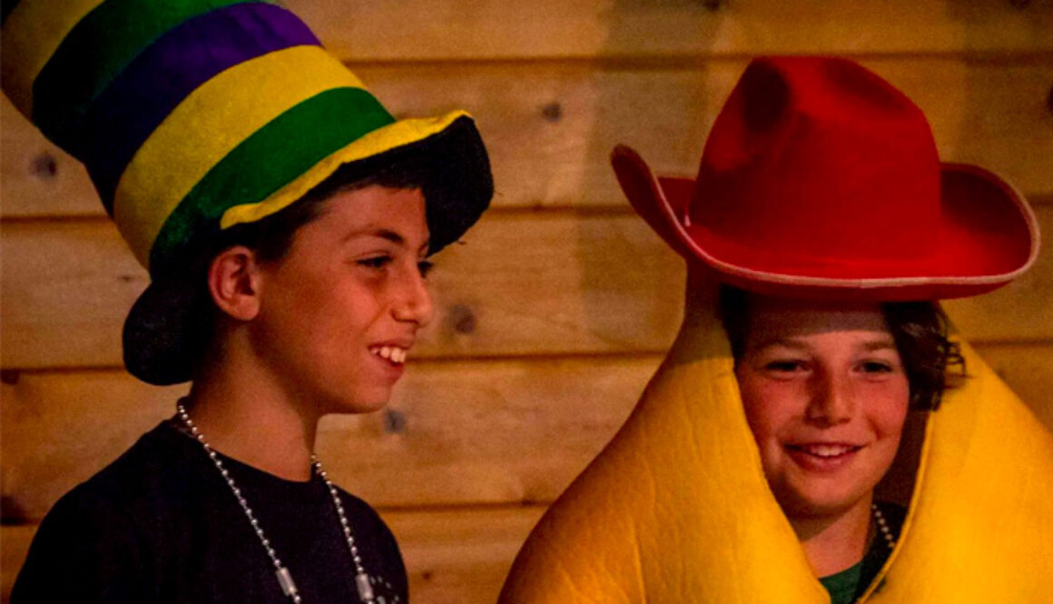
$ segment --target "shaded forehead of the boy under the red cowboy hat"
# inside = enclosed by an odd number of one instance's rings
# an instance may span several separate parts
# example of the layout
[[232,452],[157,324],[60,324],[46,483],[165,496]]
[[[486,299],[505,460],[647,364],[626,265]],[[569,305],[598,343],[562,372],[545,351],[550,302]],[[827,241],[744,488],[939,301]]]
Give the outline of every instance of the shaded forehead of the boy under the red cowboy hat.
[[751,294],[749,339],[802,337],[836,332],[889,333],[877,303],[795,300]]

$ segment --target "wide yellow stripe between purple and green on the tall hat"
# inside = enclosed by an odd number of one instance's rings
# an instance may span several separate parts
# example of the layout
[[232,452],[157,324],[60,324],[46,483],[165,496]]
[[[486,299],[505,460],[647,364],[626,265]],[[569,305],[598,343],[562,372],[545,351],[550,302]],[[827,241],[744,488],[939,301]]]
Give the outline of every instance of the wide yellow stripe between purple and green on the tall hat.
[[290,108],[335,87],[364,87],[319,46],[240,63],[191,93],[142,144],[117,184],[114,220],[143,266],[165,219],[213,167]]

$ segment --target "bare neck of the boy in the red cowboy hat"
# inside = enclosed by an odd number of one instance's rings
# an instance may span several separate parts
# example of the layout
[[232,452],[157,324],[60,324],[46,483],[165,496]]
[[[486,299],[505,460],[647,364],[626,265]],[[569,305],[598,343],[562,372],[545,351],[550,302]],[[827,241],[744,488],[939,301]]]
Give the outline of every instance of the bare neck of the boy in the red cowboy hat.
[[812,570],[827,577],[862,560],[870,541],[871,498],[831,517],[791,517]]

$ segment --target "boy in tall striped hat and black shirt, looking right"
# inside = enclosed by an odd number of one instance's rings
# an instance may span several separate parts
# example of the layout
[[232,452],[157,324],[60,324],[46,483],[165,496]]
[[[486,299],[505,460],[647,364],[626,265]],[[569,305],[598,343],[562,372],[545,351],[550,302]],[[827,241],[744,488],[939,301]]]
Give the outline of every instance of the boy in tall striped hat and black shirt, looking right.
[[193,382],[47,514],[13,602],[405,602],[391,532],[313,448],[386,404],[429,256],[489,204],[471,117],[395,120],[269,1],[20,0],[2,44],[4,93],[150,271],[128,371]]

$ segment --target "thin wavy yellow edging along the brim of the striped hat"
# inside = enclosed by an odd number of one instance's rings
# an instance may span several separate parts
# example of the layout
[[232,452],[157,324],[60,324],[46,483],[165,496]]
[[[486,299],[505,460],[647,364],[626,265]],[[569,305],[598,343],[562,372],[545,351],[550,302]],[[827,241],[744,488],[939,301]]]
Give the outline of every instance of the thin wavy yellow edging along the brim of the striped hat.
[[304,172],[303,176],[282,187],[263,201],[231,208],[223,213],[220,228],[227,229],[243,222],[255,222],[270,216],[302,197],[340,165],[423,140],[442,132],[455,120],[464,116],[468,116],[466,112],[454,111],[436,118],[403,119],[377,129],[319,161]]

